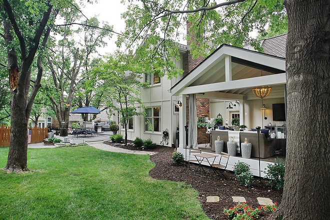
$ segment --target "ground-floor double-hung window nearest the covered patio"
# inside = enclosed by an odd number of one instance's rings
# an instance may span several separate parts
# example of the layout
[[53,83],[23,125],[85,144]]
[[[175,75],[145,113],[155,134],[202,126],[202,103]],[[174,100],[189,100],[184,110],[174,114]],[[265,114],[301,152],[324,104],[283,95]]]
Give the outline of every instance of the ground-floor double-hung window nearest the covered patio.
[[148,107],[145,113],[145,131],[160,132],[160,107]]

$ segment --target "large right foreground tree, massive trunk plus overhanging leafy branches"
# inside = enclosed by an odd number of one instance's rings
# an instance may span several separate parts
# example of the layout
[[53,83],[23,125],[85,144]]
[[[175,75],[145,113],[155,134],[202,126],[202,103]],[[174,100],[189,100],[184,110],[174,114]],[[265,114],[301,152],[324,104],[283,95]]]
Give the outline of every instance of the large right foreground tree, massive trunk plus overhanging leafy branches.
[[[191,23],[187,39],[192,41],[190,52],[193,57],[207,55],[221,43],[235,46],[251,43],[262,51],[257,39],[249,37],[251,30],[257,29],[261,36],[265,36],[266,24],[274,32],[288,27],[286,170],[282,201],[272,219],[323,219],[327,216],[330,176],[324,167],[330,165],[326,129],[330,122],[330,111],[327,110],[330,107],[328,0],[128,2],[128,11],[123,14],[126,29],[122,37],[122,41],[127,40],[127,46],[142,41],[147,34],[175,41],[176,30],[181,24],[185,25],[179,20],[185,18]],[[170,51],[164,41],[154,45],[162,54]],[[313,121],[312,126],[310,121]]]

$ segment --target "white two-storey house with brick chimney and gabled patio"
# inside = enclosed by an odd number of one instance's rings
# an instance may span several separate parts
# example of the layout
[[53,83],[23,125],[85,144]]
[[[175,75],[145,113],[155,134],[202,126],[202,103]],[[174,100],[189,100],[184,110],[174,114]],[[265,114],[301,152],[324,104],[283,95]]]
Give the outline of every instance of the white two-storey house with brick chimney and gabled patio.
[[[175,60],[183,76],[168,80],[157,74],[145,73],[143,80],[150,81],[150,88],[141,89],[140,98],[147,107],[146,116],[134,116],[130,121],[127,138],[136,136],[151,138],[157,144],[162,131],[168,129],[169,143],[176,142],[177,127],[182,147],[185,143],[184,125],[188,121],[188,94],[196,94],[197,118],[223,117],[223,124],[230,125],[231,118],[238,117],[247,127],[264,126],[272,120],[272,103],[285,102],[285,38],[286,34],[262,40],[265,54],[230,45],[221,45],[205,59],[192,59],[188,46],[179,44],[180,60]],[[276,54],[278,53],[278,54]],[[277,55],[277,56],[276,56]],[[271,85],[269,96],[260,99],[252,93],[252,87]],[[176,108],[180,100],[182,107]],[[235,106],[227,108],[230,101]],[[260,107],[265,104],[265,115]],[[262,116],[260,116],[262,115]],[[264,119],[267,116],[267,119]],[[197,119],[196,118],[196,119]],[[150,130],[145,121],[149,120]],[[206,128],[198,128],[198,143],[207,141]],[[124,134],[123,128],[120,129]],[[164,143],[165,145],[165,143]]]

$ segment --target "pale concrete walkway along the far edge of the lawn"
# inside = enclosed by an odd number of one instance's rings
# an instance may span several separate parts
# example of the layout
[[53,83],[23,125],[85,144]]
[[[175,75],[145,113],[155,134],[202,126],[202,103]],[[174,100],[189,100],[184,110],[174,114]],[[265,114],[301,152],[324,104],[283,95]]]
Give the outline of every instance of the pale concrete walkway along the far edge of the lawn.
[[[89,144],[92,147],[95,147],[97,149],[105,150],[105,151],[110,151],[110,152],[120,152],[120,153],[133,153],[133,154],[146,154],[146,155],[152,155],[157,152],[153,151],[140,151],[140,150],[129,150],[129,149],[123,149],[121,147],[114,147],[107,145],[105,143],[93,143]],[[44,145],[43,142],[41,143],[30,143],[27,144],[28,148],[54,148],[56,146],[54,145]]]

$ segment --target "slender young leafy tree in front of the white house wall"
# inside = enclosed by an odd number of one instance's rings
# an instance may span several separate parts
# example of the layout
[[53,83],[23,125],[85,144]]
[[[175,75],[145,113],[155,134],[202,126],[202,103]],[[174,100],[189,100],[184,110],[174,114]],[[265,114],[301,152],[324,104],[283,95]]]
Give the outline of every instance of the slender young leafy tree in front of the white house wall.
[[114,55],[108,56],[107,61],[92,70],[97,76],[99,89],[107,94],[106,105],[111,110],[118,111],[120,123],[125,129],[125,142],[127,143],[128,121],[134,115],[144,115],[141,99],[138,97],[141,87],[147,87],[148,83],[141,82],[141,71],[143,68],[132,55],[126,55],[116,51]]

